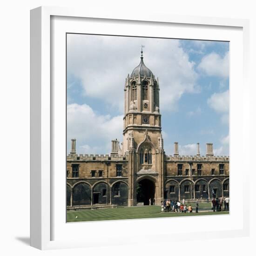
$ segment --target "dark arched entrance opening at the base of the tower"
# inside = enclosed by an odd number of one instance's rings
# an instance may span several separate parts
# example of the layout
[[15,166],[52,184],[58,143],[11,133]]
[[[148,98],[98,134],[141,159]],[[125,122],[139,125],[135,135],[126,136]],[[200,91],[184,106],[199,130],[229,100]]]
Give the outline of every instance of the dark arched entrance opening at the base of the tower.
[[149,205],[149,199],[153,204],[155,198],[155,183],[143,179],[137,183],[137,203],[143,203],[143,205]]

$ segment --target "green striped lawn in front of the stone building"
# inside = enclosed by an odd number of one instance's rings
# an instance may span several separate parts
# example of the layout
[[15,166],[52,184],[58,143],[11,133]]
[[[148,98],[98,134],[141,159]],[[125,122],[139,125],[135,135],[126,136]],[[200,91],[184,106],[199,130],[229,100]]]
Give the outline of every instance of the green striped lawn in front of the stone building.
[[[187,204],[188,206],[188,204]],[[193,204],[192,204],[193,207]],[[67,212],[67,222],[86,222],[86,221],[105,221],[105,220],[125,220],[125,219],[144,219],[161,217],[181,217],[181,216],[203,216],[228,214],[228,211],[222,212],[201,212],[199,213],[161,213],[161,206],[135,206],[118,207],[106,209],[87,209]],[[77,216],[77,218],[76,218]]]

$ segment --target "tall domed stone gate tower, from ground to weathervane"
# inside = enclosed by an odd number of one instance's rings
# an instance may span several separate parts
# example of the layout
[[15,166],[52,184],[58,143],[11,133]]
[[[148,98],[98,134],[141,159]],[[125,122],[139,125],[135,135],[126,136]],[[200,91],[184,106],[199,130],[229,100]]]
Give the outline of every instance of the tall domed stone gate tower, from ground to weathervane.
[[[159,108],[159,81],[145,66],[141,49],[141,62],[131,75],[128,74],[124,88],[123,154],[129,155],[128,205],[136,205],[138,184],[141,189],[154,190],[141,200],[163,198],[163,139]],[[150,188],[149,188],[150,187]],[[138,199],[139,201],[139,199]],[[147,202],[146,202],[147,203]],[[145,202],[144,202],[145,204]]]

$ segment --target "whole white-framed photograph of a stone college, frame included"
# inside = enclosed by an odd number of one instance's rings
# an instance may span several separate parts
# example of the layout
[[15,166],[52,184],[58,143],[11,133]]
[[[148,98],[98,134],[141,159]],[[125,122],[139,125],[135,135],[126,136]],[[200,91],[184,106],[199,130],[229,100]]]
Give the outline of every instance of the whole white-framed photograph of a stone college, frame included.
[[31,11],[36,248],[249,234],[249,23],[143,15]]

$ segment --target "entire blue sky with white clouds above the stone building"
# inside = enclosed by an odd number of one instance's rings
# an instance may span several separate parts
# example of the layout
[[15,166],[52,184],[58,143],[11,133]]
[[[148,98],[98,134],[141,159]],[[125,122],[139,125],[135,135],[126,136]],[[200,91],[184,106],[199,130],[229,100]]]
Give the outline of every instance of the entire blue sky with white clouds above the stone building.
[[122,141],[124,82],[140,62],[159,77],[167,155],[195,155],[214,143],[229,155],[229,42],[67,35],[67,152],[109,154]]

